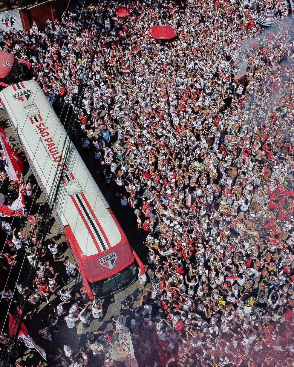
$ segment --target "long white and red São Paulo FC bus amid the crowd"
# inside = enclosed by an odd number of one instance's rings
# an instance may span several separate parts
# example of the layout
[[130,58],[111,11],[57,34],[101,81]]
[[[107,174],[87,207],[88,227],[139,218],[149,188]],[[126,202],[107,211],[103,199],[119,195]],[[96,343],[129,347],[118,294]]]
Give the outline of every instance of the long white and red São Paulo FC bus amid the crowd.
[[132,284],[135,260],[142,271],[144,266],[42,89],[36,81],[24,81],[5,88],[0,97],[33,174],[53,204],[89,298],[93,292],[105,298]]

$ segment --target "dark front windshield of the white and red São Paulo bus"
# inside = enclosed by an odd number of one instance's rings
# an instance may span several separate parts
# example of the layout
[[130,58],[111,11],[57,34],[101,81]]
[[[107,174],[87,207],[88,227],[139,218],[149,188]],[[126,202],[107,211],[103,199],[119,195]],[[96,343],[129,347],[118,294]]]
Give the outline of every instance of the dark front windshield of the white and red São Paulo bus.
[[90,284],[93,293],[95,293],[97,297],[103,298],[118,292],[123,287],[132,284],[136,280],[136,275],[137,267],[135,263],[133,263],[132,265],[128,266],[128,268],[123,269],[121,272],[111,275],[106,279],[94,281]]

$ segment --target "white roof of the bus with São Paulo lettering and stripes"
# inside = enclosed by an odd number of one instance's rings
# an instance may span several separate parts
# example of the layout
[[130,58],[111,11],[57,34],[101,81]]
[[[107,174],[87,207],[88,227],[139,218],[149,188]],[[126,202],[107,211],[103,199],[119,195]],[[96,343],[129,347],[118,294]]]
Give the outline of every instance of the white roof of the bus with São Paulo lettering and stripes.
[[61,229],[70,226],[86,256],[118,245],[123,236],[108,211],[109,205],[72,142],[68,157],[64,158],[68,135],[36,81],[7,87],[0,97],[48,200],[52,200],[51,188],[57,184],[56,177],[60,177],[58,164],[66,164],[54,202]]

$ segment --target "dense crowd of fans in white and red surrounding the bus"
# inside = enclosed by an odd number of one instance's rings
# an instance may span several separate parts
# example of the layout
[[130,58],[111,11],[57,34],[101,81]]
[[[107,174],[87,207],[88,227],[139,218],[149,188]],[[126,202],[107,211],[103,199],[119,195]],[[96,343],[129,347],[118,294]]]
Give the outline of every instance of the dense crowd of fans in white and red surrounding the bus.
[[[116,19],[117,5],[109,4],[98,45],[91,32],[101,9],[92,4],[78,4],[44,31],[12,30],[4,40],[5,50],[31,62],[54,108],[74,107],[83,90],[75,142],[146,233],[140,305],[133,308],[132,297],[122,304],[138,363],[165,366],[175,357],[182,367],[293,366],[289,3],[129,3],[132,14]],[[255,21],[262,10],[275,11],[280,23],[263,29]],[[178,36],[155,40],[154,25],[171,25]],[[57,243],[43,253],[31,302],[49,302],[58,290],[61,303],[40,330],[50,340],[60,320],[87,325],[90,304],[83,290],[58,289]],[[72,276],[78,269],[67,261]],[[94,302],[93,317],[101,312]],[[106,353],[111,332],[103,335],[103,342],[88,335],[90,360],[84,351],[73,360],[65,345],[57,363],[86,366],[102,354],[101,365],[115,366]]]

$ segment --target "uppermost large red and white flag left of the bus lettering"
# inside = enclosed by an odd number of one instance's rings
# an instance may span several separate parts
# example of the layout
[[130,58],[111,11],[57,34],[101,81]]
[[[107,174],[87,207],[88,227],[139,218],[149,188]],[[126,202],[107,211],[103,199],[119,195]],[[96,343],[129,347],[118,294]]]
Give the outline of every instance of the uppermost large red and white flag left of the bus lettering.
[[0,127],[0,143],[7,159],[7,175],[12,181],[24,181],[22,172],[24,171],[24,163],[18,157],[14,150],[14,146],[9,141],[4,130]]

